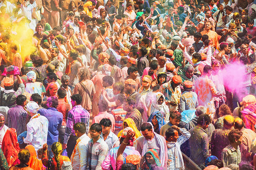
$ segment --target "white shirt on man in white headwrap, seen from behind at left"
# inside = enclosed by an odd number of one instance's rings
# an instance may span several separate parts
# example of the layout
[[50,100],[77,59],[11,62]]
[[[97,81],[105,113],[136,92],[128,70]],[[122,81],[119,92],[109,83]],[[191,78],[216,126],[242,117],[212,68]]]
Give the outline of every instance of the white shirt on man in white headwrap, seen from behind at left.
[[[40,114],[39,114],[40,115]],[[47,143],[48,120],[44,116],[35,114],[27,124],[27,137],[24,143],[34,146],[35,151],[43,148],[43,144]]]

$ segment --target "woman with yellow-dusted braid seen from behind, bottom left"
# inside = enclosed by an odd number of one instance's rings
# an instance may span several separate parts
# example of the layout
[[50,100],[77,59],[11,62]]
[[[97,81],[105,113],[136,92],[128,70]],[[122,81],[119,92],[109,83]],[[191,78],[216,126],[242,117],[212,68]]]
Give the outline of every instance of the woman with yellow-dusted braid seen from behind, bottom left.
[[54,142],[52,144],[52,152],[54,157],[53,158],[49,158],[47,156],[47,144],[45,143],[43,145],[43,158],[42,158],[42,162],[43,165],[48,167],[48,169],[51,170],[60,170],[61,166],[63,164],[63,161],[69,161],[70,159],[67,156],[62,156],[60,155],[60,152],[62,151],[62,145],[59,142]]

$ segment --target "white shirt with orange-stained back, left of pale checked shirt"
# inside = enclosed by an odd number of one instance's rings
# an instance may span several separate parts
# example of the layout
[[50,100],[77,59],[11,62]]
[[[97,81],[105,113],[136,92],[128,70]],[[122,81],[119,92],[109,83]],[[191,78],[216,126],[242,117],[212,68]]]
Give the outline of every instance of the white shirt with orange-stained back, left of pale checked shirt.
[[70,157],[73,170],[85,169],[87,154],[85,150],[89,140],[90,138],[86,134],[76,140],[75,149]]

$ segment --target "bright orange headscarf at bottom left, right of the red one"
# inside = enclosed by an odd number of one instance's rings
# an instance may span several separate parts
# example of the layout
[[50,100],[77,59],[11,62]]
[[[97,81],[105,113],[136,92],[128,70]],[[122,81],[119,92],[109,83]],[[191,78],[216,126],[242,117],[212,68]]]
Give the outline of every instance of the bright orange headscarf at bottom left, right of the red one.
[[30,153],[29,162],[27,163],[28,167],[32,168],[33,170],[41,170],[43,166],[42,160],[37,158],[37,152],[35,152],[34,146],[27,145],[25,149],[28,149]]

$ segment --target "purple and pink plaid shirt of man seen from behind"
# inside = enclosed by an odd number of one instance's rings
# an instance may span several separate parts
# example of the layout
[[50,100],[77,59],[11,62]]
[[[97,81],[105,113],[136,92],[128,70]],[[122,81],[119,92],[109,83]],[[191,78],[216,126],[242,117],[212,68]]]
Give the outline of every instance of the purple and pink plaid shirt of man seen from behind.
[[75,123],[83,122],[86,124],[86,135],[89,132],[90,113],[81,105],[74,106],[68,113],[67,126],[65,129],[64,143],[68,143],[70,135],[75,136],[73,126]]

